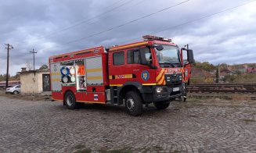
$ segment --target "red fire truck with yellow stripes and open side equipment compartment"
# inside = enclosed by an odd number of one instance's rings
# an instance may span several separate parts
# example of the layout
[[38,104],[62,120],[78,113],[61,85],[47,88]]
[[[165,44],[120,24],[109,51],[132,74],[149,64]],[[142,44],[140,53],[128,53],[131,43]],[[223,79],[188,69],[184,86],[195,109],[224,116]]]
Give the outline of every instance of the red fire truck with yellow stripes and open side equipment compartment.
[[182,96],[187,62],[171,39],[146,35],[144,41],[111,48],[99,46],[49,57],[52,99],[68,109],[82,103],[125,105],[128,114],[139,116],[143,105],[153,102],[166,109]]

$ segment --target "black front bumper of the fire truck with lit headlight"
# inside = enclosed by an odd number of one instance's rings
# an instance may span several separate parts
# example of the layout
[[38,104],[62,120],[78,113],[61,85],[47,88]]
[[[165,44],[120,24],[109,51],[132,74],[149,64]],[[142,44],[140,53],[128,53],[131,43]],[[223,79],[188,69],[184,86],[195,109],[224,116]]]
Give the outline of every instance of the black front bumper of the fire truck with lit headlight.
[[[159,87],[163,88],[163,90],[157,90],[157,88]],[[153,86],[151,90],[146,89],[146,87],[144,87],[144,91],[145,92],[143,92],[142,98],[146,102],[169,101],[182,96],[182,84],[175,87]]]

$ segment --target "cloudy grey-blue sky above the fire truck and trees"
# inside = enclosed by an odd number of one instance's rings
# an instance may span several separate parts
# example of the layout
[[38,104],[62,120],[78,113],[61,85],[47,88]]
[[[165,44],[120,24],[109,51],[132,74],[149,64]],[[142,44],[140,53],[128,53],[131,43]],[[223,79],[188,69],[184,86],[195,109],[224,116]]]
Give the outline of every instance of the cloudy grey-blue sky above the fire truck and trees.
[[99,45],[170,37],[189,44],[200,62],[256,62],[256,2],[243,0],[8,0],[0,3],[0,74],[5,44],[12,44],[9,72],[50,55]]

